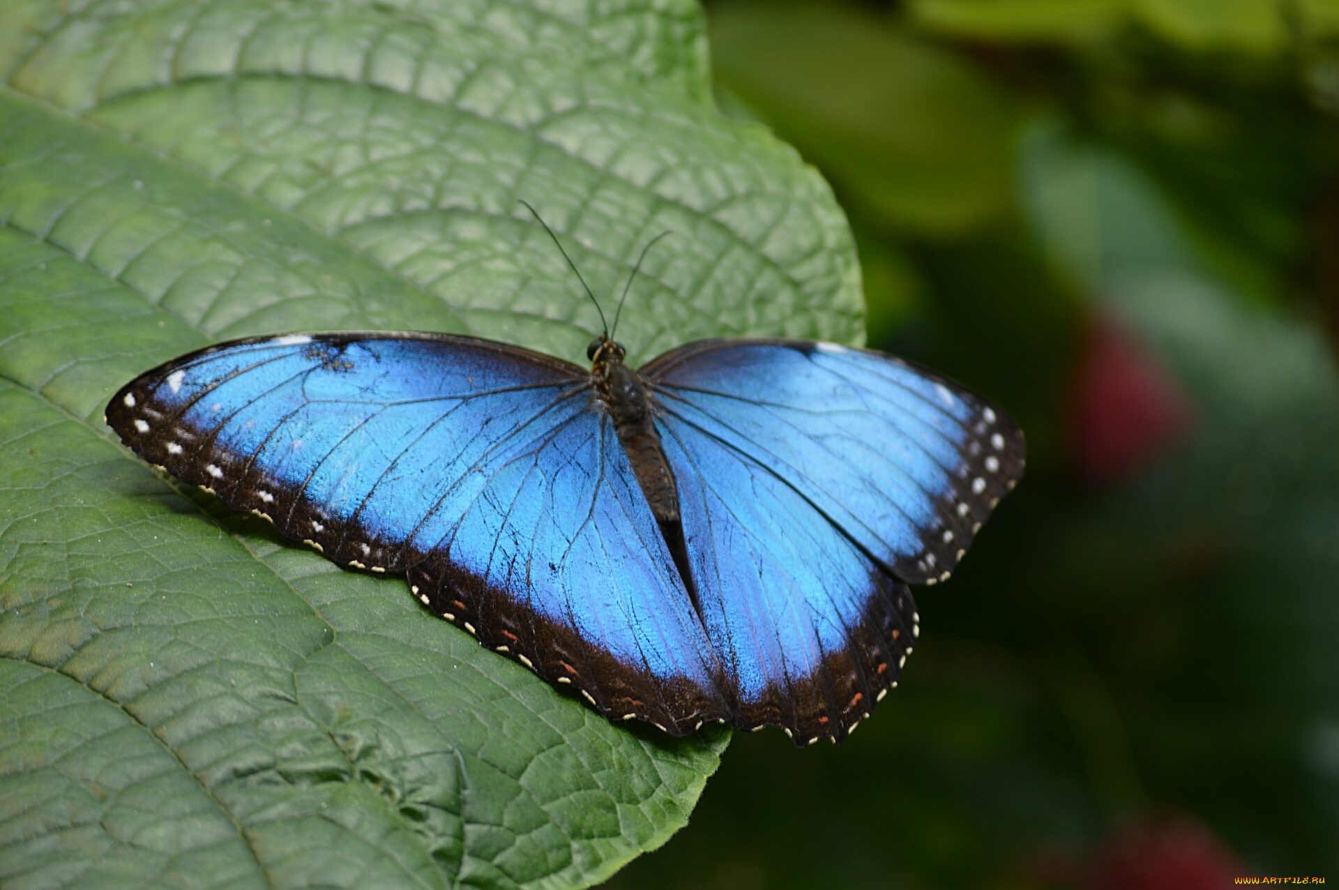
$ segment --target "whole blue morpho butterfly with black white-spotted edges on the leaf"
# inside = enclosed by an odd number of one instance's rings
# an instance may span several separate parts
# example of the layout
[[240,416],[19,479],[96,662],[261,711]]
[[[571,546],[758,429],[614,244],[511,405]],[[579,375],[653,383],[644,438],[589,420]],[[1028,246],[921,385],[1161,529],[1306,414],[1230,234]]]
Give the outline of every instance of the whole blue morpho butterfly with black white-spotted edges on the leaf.
[[107,423],[328,559],[407,573],[611,719],[844,740],[912,652],[908,585],[948,578],[1022,474],[1018,426],[829,343],[702,340],[633,371],[604,333],[586,357],[250,337],[141,375]]

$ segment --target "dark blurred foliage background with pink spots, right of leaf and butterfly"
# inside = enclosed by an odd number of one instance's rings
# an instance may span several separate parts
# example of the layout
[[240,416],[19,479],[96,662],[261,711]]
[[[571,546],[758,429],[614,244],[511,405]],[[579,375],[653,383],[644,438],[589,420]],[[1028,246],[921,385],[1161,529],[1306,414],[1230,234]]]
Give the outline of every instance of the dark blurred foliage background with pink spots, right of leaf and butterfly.
[[1028,471],[841,748],[736,735],[609,887],[1339,881],[1339,4],[708,5],[869,345]]

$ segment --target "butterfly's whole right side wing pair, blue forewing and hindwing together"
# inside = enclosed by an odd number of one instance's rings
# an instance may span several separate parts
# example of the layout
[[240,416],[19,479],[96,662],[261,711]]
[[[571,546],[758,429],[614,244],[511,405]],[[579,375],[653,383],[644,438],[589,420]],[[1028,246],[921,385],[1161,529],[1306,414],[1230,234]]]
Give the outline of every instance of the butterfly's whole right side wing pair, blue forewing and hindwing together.
[[1022,432],[957,384],[830,344],[718,340],[643,368],[736,723],[842,739],[1022,474]]

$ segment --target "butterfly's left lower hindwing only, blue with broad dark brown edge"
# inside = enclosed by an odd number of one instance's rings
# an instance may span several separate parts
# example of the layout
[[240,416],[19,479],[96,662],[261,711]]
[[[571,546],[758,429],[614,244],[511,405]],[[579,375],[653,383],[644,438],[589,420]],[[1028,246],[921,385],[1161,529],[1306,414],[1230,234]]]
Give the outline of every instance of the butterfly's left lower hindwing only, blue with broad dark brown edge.
[[608,415],[489,467],[410,584],[438,614],[603,713],[687,735],[730,716],[711,646]]

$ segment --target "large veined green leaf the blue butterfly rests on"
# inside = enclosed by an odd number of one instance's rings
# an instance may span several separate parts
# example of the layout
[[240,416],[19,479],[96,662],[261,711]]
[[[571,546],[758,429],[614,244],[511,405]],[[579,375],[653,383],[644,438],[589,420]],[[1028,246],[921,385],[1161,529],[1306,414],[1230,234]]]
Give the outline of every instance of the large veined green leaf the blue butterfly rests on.
[[696,5],[0,5],[0,885],[569,887],[728,732],[615,727],[114,443],[210,341],[458,331],[569,359],[862,341],[822,179],[707,100]]

